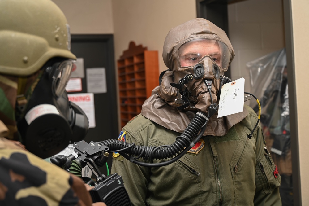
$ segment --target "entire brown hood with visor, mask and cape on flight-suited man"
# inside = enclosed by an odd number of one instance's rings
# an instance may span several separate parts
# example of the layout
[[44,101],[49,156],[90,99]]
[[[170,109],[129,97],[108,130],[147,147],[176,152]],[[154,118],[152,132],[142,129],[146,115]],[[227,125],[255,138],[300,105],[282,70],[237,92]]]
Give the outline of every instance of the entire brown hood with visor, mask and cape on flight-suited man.
[[[203,18],[172,28],[165,37],[162,57],[169,70],[143,104],[141,115],[157,124],[183,132],[197,111],[208,113],[220,97],[223,73],[234,58],[226,33]],[[222,80],[221,80],[222,78]],[[213,105],[212,105],[213,104]],[[208,121],[204,135],[222,136],[242,120],[247,111]]]

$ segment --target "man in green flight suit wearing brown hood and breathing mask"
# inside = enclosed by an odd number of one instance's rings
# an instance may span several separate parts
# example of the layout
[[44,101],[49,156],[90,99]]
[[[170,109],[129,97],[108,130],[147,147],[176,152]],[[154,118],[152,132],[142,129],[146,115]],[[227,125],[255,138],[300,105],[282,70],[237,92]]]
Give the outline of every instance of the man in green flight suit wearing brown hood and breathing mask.
[[[155,147],[174,142],[196,112],[215,108],[234,55],[225,32],[208,20],[172,28],[163,47],[169,70],[122,129],[122,140]],[[257,120],[246,105],[229,116],[215,113],[200,141],[174,163],[141,167],[115,153],[112,172],[122,176],[133,205],[281,205],[281,177]]]

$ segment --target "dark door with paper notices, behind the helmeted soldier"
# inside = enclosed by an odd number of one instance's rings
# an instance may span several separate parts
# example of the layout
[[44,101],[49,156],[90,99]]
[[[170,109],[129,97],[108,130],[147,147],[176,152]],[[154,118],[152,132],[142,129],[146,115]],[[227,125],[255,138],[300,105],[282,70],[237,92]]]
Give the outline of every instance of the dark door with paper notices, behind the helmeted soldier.
[[[117,91],[114,67],[114,40],[112,34],[104,35],[72,35],[71,51],[77,58],[84,59],[85,77],[81,79],[82,90],[72,93],[87,93],[86,70],[88,68],[105,68],[106,93],[94,93],[95,127],[90,128],[84,138],[89,143],[99,142],[105,139],[118,138],[118,116],[117,116]],[[109,169],[112,158],[109,157]],[[105,167],[100,168],[103,174]]]

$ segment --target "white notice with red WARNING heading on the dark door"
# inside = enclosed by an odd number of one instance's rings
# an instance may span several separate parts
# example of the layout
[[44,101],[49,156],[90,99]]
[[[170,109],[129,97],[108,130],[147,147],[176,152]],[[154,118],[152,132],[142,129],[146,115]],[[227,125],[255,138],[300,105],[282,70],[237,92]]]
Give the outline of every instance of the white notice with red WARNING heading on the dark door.
[[68,94],[69,101],[77,104],[86,114],[89,128],[96,127],[93,93]]

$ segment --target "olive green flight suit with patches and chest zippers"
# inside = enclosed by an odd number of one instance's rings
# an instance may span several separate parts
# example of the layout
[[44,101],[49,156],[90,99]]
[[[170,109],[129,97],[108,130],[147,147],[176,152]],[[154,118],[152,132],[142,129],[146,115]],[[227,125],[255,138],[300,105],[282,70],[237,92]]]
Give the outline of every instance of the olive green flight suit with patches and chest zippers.
[[[203,136],[195,153],[187,152],[176,162],[148,168],[113,155],[112,173],[122,176],[133,205],[281,205],[277,173],[260,124],[252,138],[257,116],[248,115],[226,135]],[[136,145],[170,145],[180,135],[142,115],[123,128],[126,142]],[[197,154],[196,154],[197,153]],[[117,156],[117,157],[116,157]],[[146,162],[162,162],[153,160]]]

